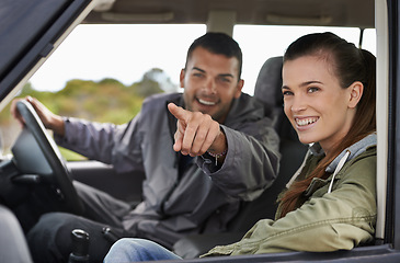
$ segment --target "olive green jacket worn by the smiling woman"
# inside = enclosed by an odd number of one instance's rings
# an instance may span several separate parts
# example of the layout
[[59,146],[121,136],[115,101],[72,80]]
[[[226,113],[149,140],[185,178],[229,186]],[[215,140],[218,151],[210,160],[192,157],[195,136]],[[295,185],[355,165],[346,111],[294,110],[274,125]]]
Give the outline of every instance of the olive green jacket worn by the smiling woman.
[[[359,149],[359,145],[357,150],[353,149],[352,155],[355,152],[356,156],[351,155],[336,173],[331,193],[328,190],[332,174],[327,180],[315,179],[306,191],[309,198],[298,209],[277,220],[260,220],[241,241],[216,247],[203,256],[350,250],[373,241],[376,224],[376,135],[370,136],[375,136],[375,141],[364,144],[364,150]],[[309,174],[320,159],[310,155],[302,171]]]

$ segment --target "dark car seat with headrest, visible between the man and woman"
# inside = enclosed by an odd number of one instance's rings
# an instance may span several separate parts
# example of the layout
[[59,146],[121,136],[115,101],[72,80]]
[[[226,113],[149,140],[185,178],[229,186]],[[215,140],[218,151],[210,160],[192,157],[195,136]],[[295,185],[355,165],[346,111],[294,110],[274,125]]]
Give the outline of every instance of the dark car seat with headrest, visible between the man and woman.
[[244,203],[240,214],[229,224],[230,230],[247,231],[262,218],[275,218],[277,196],[292,175],[301,165],[308,146],[298,140],[296,130],[283,110],[282,94],[283,57],[272,57],[262,66],[255,82],[254,96],[265,105],[279,136],[279,172],[274,183],[255,201]]

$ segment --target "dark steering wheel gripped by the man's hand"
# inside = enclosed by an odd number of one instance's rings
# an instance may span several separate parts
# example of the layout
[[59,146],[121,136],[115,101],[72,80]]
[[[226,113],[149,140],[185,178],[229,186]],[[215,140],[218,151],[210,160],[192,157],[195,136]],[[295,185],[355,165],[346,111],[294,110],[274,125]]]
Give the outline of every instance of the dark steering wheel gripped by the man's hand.
[[[37,162],[33,161],[32,158],[37,159],[44,157],[45,160],[39,161],[47,161],[47,164],[45,165],[48,167],[48,169],[45,169],[46,172],[44,174],[39,174],[41,178],[44,181],[49,182],[56,188],[61,204],[68,211],[81,215],[83,213],[83,204],[79,198],[76,188],[73,187],[72,181],[70,179],[70,172],[56,146],[56,142],[46,133],[45,126],[43,125],[31,103],[25,100],[21,100],[16,102],[16,108],[25,122],[24,129],[26,130],[23,130],[23,133],[31,134],[39,148],[36,155],[34,153],[34,150],[30,153],[26,152],[25,144],[24,146],[20,147],[25,147],[25,149],[21,149],[20,152],[24,151],[24,159],[31,159],[27,162]],[[28,155],[31,155],[31,157]],[[35,157],[32,157],[32,155],[35,155]]]

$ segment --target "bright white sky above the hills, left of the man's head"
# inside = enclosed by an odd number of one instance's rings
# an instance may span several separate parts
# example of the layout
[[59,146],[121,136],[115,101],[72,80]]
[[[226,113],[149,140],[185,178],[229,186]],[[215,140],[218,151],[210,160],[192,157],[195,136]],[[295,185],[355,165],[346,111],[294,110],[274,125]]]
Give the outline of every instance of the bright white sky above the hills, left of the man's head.
[[178,83],[188,45],[205,32],[203,24],[81,24],[32,77],[31,83],[46,91],[60,90],[70,79],[113,78],[128,85],[152,68],[162,69]]

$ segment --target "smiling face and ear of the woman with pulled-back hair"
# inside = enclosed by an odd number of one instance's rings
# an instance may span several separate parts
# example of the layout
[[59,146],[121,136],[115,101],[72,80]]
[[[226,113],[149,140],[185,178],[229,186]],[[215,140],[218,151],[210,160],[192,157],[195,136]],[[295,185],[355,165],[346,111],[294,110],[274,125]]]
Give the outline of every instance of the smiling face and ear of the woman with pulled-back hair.
[[327,57],[304,56],[285,61],[282,91],[285,114],[300,141],[320,142],[328,153],[347,134],[363,85],[342,89]]

